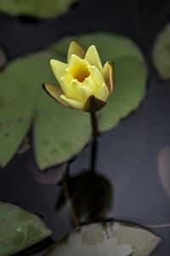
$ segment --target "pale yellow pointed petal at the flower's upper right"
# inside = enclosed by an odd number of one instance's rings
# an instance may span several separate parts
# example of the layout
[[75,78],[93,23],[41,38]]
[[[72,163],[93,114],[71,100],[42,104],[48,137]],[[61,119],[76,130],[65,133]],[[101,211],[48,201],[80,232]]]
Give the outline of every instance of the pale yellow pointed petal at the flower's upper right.
[[91,65],[98,67],[102,71],[103,67],[99,58],[99,53],[94,45],[91,45],[85,55],[85,60],[87,60]]

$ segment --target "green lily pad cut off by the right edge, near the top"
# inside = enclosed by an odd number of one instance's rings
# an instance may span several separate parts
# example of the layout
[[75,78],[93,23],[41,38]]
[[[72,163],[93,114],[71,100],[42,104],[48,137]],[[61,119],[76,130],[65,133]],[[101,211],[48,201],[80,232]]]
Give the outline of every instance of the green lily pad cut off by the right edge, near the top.
[[161,79],[170,79],[170,24],[157,36],[152,57]]

